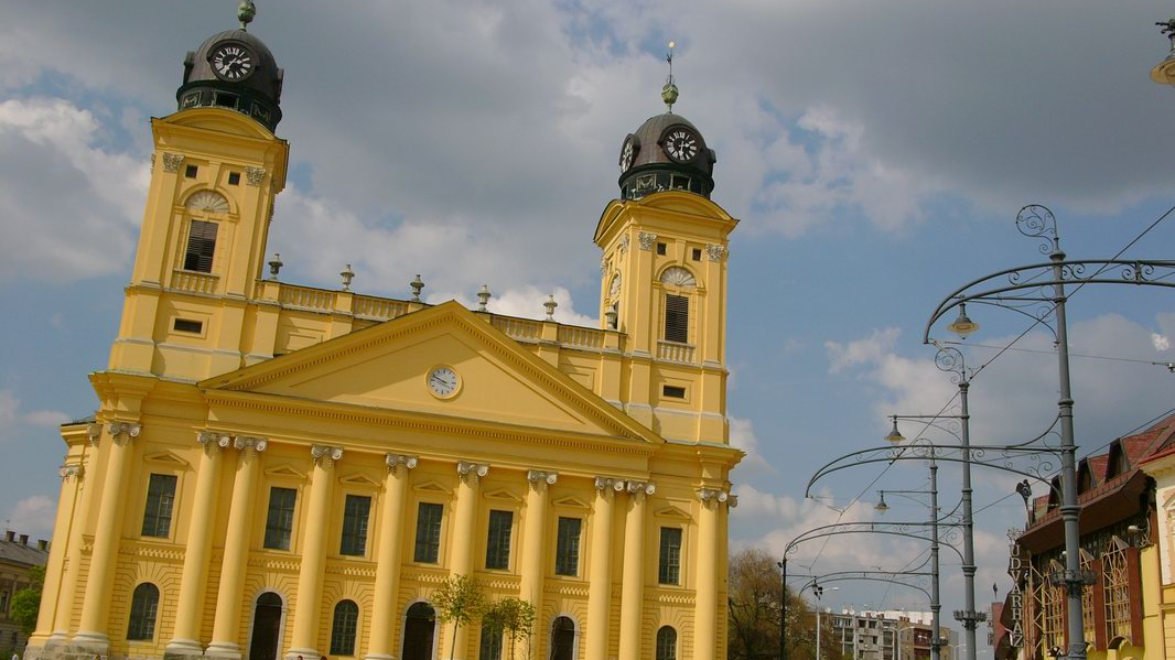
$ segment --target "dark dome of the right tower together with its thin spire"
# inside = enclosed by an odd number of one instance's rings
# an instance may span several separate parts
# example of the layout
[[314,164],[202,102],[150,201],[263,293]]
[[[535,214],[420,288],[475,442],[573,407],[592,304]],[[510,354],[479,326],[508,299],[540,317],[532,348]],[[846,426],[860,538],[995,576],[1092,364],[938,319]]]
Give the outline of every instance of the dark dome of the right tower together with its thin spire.
[[710,198],[714,189],[718,155],[706,147],[701,132],[682,115],[673,114],[678,99],[673,82],[673,43],[670,42],[670,75],[662,89],[669,112],[649,117],[620,144],[620,197],[639,200],[662,190],[686,190]]

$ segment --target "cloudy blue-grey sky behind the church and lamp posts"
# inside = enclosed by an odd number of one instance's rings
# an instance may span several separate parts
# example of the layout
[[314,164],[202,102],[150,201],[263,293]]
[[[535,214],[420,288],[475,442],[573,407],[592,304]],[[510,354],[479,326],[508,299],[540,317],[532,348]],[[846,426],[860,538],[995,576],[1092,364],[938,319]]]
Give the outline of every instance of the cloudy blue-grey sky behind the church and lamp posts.
[[[808,480],[882,444],[887,416],[951,410],[922,344],[962,284],[1043,257],[1015,228],[1049,207],[1074,258],[1170,258],[1175,90],[1150,68],[1169,2],[1096,0],[434,0],[257,4],[250,32],[286,69],[291,146],[270,251],[286,281],[597,325],[591,236],[618,195],[625,135],[664,112],[665,50],[718,153],[730,254],[731,546],[868,520],[877,489],[921,490],[918,462]],[[52,528],[56,426],[96,406],[148,181],[152,116],[175,110],[187,50],[235,26],[233,0],[0,0],[0,521]],[[1056,413],[1052,338],[969,310],[972,442],[1036,436]],[[1087,288],[1069,305],[1076,436],[1097,452],[1175,408],[1175,295]],[[951,339],[940,326],[939,339]],[[913,429],[911,429],[913,430]],[[1010,476],[976,470],[976,592],[1008,587]],[[940,470],[945,507],[959,473]],[[1038,489],[1038,494],[1041,490]],[[915,498],[918,496],[914,496]],[[889,498],[891,519],[925,519]],[[805,544],[798,572],[902,568],[922,546]],[[944,612],[962,608],[944,557]],[[793,586],[801,586],[798,580]],[[916,591],[840,584],[821,605],[926,610]],[[982,639],[982,635],[981,638]]]

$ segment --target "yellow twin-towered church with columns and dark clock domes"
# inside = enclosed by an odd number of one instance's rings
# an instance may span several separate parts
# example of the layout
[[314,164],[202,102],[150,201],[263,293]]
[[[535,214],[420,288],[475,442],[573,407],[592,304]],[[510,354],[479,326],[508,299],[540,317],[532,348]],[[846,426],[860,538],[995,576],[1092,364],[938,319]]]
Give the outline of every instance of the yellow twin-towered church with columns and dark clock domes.
[[625,137],[600,328],[430,305],[419,278],[407,299],[290,284],[266,257],[282,69],[253,12],[152,120],[26,658],[503,658],[492,628],[437,624],[451,575],[536,607],[529,658],[726,658],[737,221],[701,134],[670,112]]

